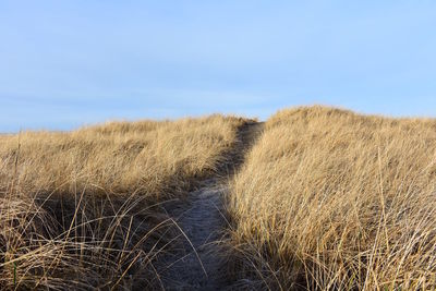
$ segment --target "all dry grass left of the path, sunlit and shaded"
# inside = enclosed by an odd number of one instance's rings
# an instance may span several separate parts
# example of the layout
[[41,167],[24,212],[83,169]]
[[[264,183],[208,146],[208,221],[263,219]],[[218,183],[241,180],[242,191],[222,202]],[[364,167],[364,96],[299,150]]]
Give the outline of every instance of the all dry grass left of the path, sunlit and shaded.
[[238,118],[0,136],[0,289],[158,288],[159,203],[217,170]]

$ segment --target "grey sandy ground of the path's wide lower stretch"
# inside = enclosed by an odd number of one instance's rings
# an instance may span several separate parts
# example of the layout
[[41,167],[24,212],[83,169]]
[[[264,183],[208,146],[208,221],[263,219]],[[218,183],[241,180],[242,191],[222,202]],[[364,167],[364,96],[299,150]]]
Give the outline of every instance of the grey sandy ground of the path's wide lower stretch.
[[182,250],[166,258],[167,268],[160,274],[166,290],[223,290],[229,283],[225,250],[217,243],[226,228],[226,189],[214,179],[205,184],[169,213],[186,238]]

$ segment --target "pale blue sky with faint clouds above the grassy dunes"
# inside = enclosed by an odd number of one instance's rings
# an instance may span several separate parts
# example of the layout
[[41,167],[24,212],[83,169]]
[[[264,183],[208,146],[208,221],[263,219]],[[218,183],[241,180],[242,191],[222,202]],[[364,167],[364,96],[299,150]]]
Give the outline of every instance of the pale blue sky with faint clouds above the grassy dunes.
[[436,117],[436,1],[0,0],[0,132],[313,104]]

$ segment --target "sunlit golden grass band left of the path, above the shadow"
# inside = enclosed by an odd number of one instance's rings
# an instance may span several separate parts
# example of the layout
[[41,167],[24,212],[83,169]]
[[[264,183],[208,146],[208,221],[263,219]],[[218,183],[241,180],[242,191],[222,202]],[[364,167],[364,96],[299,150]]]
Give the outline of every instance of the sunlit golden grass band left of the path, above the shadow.
[[242,122],[213,116],[2,136],[0,183],[14,180],[26,192],[76,193],[86,187],[94,194],[168,197],[174,187],[215,170]]

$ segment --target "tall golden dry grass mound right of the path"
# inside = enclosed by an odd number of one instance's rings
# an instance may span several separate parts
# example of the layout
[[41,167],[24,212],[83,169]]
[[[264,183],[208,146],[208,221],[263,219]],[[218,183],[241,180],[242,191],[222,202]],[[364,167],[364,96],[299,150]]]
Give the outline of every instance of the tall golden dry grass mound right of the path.
[[283,110],[232,187],[235,248],[270,288],[436,286],[435,120]]

